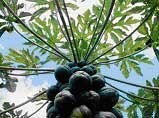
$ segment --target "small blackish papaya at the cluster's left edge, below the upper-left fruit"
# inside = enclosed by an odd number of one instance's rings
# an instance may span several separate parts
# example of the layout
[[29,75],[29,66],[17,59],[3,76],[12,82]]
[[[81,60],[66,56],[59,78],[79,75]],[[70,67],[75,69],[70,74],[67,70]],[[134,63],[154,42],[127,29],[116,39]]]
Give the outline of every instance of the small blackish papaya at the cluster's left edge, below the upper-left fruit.
[[51,86],[46,92],[46,96],[48,100],[54,101],[55,96],[58,92],[59,92],[59,89],[56,85]]

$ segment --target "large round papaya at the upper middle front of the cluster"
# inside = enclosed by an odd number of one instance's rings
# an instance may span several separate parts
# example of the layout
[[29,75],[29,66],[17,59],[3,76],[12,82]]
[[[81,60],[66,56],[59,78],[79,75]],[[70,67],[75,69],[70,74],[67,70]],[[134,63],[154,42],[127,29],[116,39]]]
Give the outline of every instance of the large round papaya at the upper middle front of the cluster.
[[84,71],[75,72],[69,79],[70,90],[73,94],[90,90],[92,80]]

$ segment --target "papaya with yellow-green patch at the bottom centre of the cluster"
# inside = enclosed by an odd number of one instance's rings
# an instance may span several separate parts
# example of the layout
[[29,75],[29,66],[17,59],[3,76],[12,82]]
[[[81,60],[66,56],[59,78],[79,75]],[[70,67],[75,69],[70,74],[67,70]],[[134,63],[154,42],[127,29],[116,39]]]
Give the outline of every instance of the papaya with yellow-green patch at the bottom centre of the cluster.
[[92,118],[92,112],[87,106],[81,105],[73,109],[70,118]]

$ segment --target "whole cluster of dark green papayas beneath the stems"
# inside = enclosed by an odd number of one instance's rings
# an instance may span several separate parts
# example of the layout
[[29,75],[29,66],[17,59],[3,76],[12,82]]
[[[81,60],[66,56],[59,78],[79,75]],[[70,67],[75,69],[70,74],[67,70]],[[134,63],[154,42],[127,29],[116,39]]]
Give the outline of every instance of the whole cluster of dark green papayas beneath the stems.
[[55,70],[55,78],[47,90],[47,118],[123,118],[113,108],[119,93],[105,86],[93,65],[68,63]]

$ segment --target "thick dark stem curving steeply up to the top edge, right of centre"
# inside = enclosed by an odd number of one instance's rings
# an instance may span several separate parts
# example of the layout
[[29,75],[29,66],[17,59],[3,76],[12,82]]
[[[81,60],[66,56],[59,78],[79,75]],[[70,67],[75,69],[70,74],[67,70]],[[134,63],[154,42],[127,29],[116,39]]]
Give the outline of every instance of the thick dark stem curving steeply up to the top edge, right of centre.
[[110,9],[109,9],[109,12],[108,12],[108,15],[107,15],[107,17],[106,17],[105,22],[103,23],[102,29],[101,29],[101,31],[99,32],[99,35],[97,36],[97,39],[96,39],[96,41],[95,41],[93,47],[92,47],[91,50],[88,52],[88,54],[87,54],[87,56],[86,56],[86,58],[85,58],[85,61],[86,61],[86,62],[87,62],[88,58],[90,57],[90,55],[92,54],[92,52],[95,50],[96,46],[98,45],[98,43],[100,42],[100,40],[101,40],[101,38],[102,38],[102,36],[103,36],[103,33],[104,33],[104,31],[105,31],[104,29],[106,28],[106,26],[107,26],[107,24],[108,24],[109,17],[110,17],[110,15],[111,15],[111,13],[112,13],[112,10],[113,10],[114,5],[115,5],[115,0],[112,0],[111,6],[110,6]]

